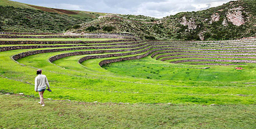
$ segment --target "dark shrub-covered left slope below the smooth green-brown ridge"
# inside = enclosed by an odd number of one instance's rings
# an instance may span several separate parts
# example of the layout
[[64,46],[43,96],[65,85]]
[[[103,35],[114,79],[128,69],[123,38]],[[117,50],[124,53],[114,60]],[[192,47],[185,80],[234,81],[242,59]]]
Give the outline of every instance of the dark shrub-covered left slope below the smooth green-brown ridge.
[[81,19],[40,10],[0,6],[1,28],[7,32],[64,32]]

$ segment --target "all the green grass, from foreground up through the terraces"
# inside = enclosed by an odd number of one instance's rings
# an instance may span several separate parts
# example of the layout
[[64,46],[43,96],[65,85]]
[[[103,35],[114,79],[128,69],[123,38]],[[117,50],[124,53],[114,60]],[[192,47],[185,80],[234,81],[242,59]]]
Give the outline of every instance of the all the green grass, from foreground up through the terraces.
[[[0,40],[20,40],[20,38]],[[106,41],[112,39],[42,38],[35,40]],[[0,108],[3,109],[0,110],[0,116],[3,118],[0,120],[0,128],[254,129],[256,127],[256,63],[215,61],[169,63],[176,60],[201,59],[195,57],[165,61],[161,61],[165,57],[156,59],[159,55],[169,53],[190,54],[190,56],[212,54],[211,56],[220,58],[209,59],[250,62],[256,59],[254,46],[230,47],[234,45],[232,41],[222,45],[223,47],[217,45],[209,47],[211,45],[208,42],[202,46],[196,41],[193,44],[180,41],[180,46],[177,46],[179,42],[166,43],[169,46],[158,43],[147,45],[105,43],[104,46],[99,45],[102,43],[93,43],[93,47],[96,48],[86,49],[84,47],[82,50],[37,53],[22,57],[17,62],[12,59],[13,55],[37,50],[74,48],[74,46],[49,48],[51,44],[34,44],[44,45],[46,48],[0,52],[0,92],[27,95],[0,95]],[[246,41],[243,43],[247,44]],[[6,44],[0,47],[27,45],[33,44]],[[98,46],[122,46],[123,48],[97,49]],[[237,48],[240,49],[237,50]],[[105,52],[106,50],[109,52]],[[49,61],[49,58],[55,55],[94,51],[100,52],[72,55],[53,62]],[[167,54],[162,54],[167,51]],[[145,57],[99,66],[99,63],[104,60],[141,55]],[[79,59],[85,56],[95,56],[95,58],[79,63]],[[180,55],[166,57],[177,56]],[[222,56],[228,56],[228,58],[221,58]],[[241,58],[234,58],[235,56],[241,56]],[[193,63],[204,64],[192,65]],[[229,64],[229,66],[205,63]],[[206,67],[210,68],[203,69]],[[243,69],[237,70],[236,67]],[[47,76],[53,91],[44,94],[45,99],[53,100],[46,101],[44,108],[47,112],[42,114],[35,112],[36,109],[44,111],[37,104],[39,95],[34,91],[34,79],[36,70],[39,68],[42,69],[42,74]],[[71,102],[64,100],[71,100]],[[92,103],[95,101],[99,103]],[[212,104],[215,106],[210,106]],[[10,108],[16,110],[9,111]],[[24,112],[18,114],[20,111]],[[38,115],[49,121],[45,123],[40,123],[40,119],[35,121],[33,118]],[[66,120],[67,118],[69,121]],[[11,119],[10,122],[6,123],[7,119]],[[57,123],[58,126],[51,125],[51,123]]]

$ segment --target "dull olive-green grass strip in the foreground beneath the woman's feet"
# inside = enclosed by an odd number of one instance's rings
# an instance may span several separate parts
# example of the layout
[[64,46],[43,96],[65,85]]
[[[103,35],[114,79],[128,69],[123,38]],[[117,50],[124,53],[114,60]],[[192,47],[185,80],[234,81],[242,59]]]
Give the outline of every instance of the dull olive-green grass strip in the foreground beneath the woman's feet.
[[118,104],[46,100],[46,106],[41,107],[38,101],[39,98],[35,97],[0,94],[0,128],[256,128],[256,105]]

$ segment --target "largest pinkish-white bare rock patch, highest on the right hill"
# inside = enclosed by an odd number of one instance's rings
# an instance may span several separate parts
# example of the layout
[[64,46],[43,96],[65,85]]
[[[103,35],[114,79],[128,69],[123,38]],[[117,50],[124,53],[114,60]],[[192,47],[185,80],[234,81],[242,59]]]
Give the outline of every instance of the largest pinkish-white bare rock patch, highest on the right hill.
[[232,22],[236,26],[240,26],[245,23],[245,19],[242,15],[242,7],[237,7],[233,9],[229,9],[226,17],[228,21]]

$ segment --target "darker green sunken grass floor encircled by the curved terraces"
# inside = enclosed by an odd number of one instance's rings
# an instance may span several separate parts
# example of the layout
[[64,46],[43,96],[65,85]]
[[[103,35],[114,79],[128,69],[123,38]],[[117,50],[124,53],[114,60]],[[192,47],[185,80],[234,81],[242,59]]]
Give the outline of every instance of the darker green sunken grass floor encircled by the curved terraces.
[[[256,77],[256,65],[246,66],[210,66],[210,69],[197,69],[209,67],[189,65],[166,65],[161,61],[154,61],[150,57],[111,63],[104,68],[118,74],[139,78],[153,78],[159,80],[184,80],[208,82],[235,82],[250,81]],[[244,70],[236,70],[243,67]]]

